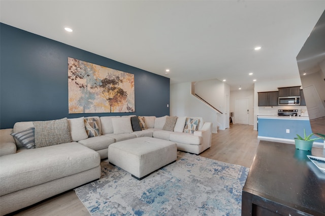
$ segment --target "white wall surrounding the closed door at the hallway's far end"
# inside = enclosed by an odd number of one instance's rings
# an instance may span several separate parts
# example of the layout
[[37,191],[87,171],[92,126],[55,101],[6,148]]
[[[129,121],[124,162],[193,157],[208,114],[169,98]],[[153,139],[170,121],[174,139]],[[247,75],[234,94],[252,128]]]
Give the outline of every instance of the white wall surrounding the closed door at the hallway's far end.
[[[254,90],[230,92],[230,112],[235,112],[236,99],[249,100],[249,124],[253,125],[254,124]],[[233,118],[233,123],[236,124],[236,119],[234,118]]]

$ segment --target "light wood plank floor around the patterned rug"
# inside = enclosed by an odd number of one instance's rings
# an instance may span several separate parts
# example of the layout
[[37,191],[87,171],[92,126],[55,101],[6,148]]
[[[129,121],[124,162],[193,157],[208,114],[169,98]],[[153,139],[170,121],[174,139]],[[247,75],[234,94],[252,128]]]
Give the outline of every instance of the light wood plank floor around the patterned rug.
[[[231,124],[230,128],[212,135],[211,148],[202,157],[250,167],[258,145],[257,132],[252,125]],[[90,213],[73,190],[27,207],[13,215],[54,216]]]

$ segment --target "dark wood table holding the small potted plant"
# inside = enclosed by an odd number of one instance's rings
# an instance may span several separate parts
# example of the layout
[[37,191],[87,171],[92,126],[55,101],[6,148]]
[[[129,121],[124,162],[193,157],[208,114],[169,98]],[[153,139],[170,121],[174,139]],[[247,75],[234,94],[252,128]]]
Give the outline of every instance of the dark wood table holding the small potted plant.
[[307,157],[324,149],[260,141],[243,188],[242,215],[325,215],[325,174]]

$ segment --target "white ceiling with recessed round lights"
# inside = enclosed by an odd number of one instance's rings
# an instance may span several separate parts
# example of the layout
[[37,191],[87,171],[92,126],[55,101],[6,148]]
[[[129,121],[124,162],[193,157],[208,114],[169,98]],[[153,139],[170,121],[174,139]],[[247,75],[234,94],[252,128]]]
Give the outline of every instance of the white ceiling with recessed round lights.
[[296,57],[325,1],[11,0],[0,8],[2,23],[171,83],[226,79],[233,91],[253,89],[253,79],[298,77]]

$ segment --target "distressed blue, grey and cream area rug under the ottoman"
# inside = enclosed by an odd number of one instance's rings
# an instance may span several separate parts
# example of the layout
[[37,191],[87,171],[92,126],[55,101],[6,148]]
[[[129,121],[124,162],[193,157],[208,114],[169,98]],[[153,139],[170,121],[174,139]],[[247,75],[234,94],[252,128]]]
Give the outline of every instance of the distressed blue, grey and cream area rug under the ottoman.
[[249,168],[178,151],[177,160],[139,181],[101,162],[102,177],[76,194],[91,215],[241,215]]

